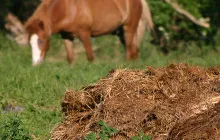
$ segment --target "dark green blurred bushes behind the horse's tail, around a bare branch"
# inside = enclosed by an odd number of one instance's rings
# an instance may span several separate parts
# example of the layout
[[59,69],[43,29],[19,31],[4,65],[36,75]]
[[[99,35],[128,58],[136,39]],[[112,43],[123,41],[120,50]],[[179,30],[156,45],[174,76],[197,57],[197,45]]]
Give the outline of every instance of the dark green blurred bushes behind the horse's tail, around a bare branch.
[[[219,21],[214,15],[220,12],[213,3],[215,0],[173,0],[199,20],[209,17],[211,27],[206,29],[195,25],[183,15],[177,13],[173,7],[161,0],[147,0],[153,15],[157,39],[155,42],[168,51],[178,49],[181,44],[197,42],[198,45],[213,44]],[[219,14],[217,14],[219,15]],[[216,22],[214,22],[216,21]]]

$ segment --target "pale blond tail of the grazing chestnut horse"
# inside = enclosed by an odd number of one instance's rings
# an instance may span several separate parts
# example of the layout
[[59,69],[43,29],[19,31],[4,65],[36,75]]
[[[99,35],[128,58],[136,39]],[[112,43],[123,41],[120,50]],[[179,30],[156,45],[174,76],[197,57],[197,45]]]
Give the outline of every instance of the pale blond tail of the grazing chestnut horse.
[[134,43],[137,46],[140,45],[146,29],[154,32],[154,23],[152,20],[150,8],[146,0],[141,0],[141,3],[142,3],[142,15],[139,20],[137,32],[134,38]]

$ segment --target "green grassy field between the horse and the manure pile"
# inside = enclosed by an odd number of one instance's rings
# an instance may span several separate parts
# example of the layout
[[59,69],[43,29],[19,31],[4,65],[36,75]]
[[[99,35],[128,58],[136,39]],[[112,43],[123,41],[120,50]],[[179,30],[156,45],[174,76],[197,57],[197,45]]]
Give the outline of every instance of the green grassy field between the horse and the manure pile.
[[[50,131],[62,120],[60,103],[65,91],[79,90],[95,83],[111,69],[143,69],[179,62],[199,66],[220,65],[220,54],[208,46],[202,50],[195,45],[185,46],[183,50],[164,55],[145,38],[139,50],[139,60],[126,62],[125,50],[119,41],[105,36],[93,39],[94,63],[89,63],[85,53],[78,51],[74,65],[69,65],[62,41],[55,36],[51,39],[45,62],[33,67],[30,47],[19,47],[0,35],[0,138],[20,130],[19,133],[49,139]],[[77,45],[75,50],[83,48]],[[16,119],[19,127],[15,126]]]

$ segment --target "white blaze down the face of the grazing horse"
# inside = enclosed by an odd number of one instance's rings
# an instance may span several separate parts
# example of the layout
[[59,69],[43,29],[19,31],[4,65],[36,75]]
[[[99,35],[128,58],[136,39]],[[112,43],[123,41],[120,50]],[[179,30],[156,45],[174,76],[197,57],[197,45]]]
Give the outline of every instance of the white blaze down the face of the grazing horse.
[[33,34],[30,38],[30,44],[32,48],[32,64],[37,65],[42,62],[41,50],[38,45],[38,35]]

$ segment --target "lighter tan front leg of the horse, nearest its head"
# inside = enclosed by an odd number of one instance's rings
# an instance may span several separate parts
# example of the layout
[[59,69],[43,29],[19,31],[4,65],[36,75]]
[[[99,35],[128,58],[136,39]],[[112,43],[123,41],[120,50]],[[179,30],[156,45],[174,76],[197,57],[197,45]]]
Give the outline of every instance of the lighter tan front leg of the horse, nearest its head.
[[64,39],[64,44],[66,48],[66,57],[67,61],[71,64],[74,59],[74,52],[73,52],[73,40]]

